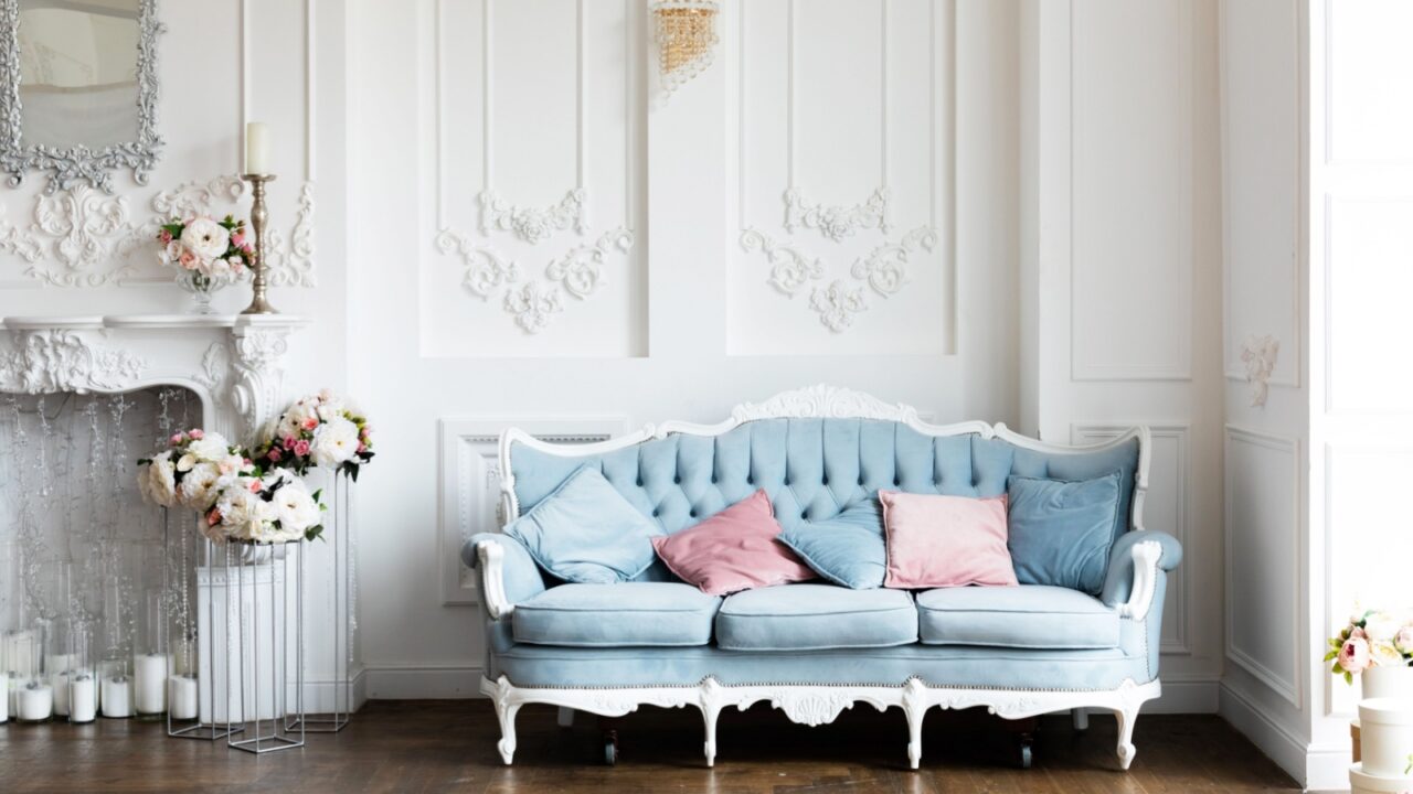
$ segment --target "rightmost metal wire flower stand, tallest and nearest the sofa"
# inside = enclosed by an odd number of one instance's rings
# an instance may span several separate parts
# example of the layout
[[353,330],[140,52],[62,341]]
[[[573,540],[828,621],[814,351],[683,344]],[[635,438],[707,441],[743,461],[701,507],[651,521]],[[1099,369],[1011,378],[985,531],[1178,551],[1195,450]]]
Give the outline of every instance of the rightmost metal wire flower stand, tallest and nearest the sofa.
[[[285,718],[285,730],[302,728],[309,733],[338,733],[353,716],[353,558],[349,544],[349,478],[333,475],[333,521],[325,528],[324,537],[333,547],[333,711],[309,713],[297,719]],[[329,537],[332,535],[332,537]],[[307,547],[300,547],[302,555]],[[304,589],[300,591],[304,599]],[[298,634],[302,653],[304,633]]]

